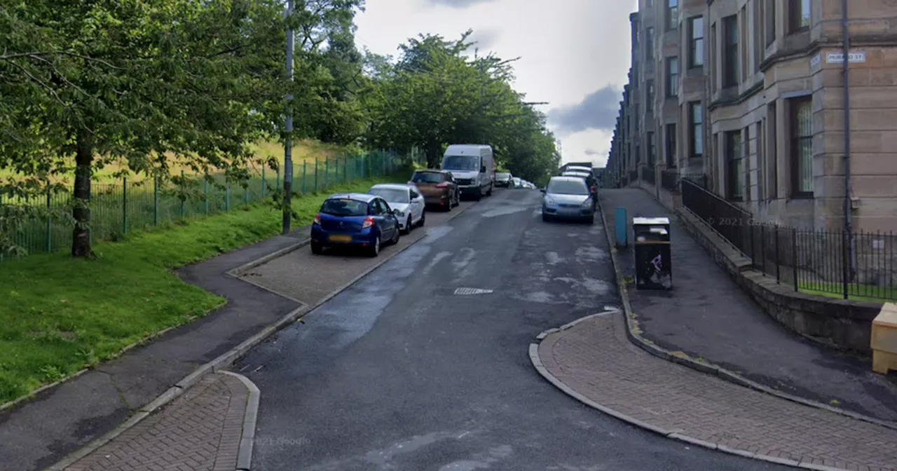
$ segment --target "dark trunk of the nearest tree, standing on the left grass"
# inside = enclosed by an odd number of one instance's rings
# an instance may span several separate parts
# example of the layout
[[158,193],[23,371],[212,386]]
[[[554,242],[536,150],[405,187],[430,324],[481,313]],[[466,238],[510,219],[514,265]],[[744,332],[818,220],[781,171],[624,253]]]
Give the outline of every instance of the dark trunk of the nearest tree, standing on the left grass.
[[77,137],[74,150],[74,231],[72,231],[72,257],[92,257],[91,248],[91,167],[93,145],[89,135],[82,132]]

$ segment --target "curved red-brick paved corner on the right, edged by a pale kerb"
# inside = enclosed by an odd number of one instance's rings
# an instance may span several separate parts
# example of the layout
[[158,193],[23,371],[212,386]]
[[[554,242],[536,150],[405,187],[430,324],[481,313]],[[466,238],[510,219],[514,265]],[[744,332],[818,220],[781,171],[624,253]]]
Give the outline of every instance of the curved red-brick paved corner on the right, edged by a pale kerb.
[[897,470],[897,431],[772,397],[631,345],[623,314],[586,319],[539,345],[545,369],[634,419],[719,446],[841,469]]

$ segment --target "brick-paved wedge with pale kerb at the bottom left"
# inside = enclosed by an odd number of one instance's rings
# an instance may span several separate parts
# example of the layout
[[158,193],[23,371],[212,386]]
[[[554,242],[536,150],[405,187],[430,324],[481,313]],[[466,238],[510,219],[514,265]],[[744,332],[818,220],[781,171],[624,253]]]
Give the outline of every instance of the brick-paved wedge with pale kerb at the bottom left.
[[211,374],[66,471],[233,471],[248,390]]

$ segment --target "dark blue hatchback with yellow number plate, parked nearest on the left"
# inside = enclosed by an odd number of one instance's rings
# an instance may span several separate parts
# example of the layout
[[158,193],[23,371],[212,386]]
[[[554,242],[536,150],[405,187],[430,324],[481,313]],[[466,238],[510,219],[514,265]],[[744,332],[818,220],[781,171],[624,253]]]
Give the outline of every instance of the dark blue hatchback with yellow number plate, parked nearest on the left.
[[311,224],[311,252],[356,247],[377,257],[382,242],[398,242],[399,230],[396,214],[383,198],[366,193],[336,194],[324,201]]

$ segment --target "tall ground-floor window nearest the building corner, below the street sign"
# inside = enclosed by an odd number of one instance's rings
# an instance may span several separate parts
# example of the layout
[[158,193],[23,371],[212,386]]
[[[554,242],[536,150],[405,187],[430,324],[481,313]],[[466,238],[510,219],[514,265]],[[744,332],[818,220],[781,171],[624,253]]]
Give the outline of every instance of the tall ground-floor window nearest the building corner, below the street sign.
[[791,163],[794,196],[813,196],[813,98],[791,100]]

